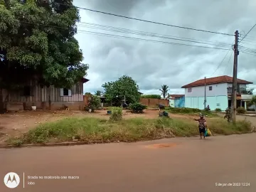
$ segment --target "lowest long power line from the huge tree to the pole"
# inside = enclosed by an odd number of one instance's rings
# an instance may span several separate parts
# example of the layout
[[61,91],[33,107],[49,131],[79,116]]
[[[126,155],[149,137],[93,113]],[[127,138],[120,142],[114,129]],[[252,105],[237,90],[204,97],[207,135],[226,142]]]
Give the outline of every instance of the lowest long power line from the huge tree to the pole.
[[[48,26],[44,24],[38,24],[38,23],[28,23],[28,22],[21,22],[21,23],[27,23],[27,24],[33,24],[33,25],[41,25],[41,26]],[[55,28],[63,28],[59,26],[49,26],[49,27],[55,27]],[[65,29],[65,28],[64,28]],[[132,38],[132,37],[127,37],[127,36],[117,36],[113,34],[108,34],[108,33],[97,33],[95,31],[84,31],[84,30],[78,30],[82,33],[87,33],[87,34],[94,34],[97,36],[108,36],[108,37],[114,37],[114,38],[125,38],[125,39],[130,39],[130,40],[137,40],[137,41],[149,41],[153,43],[164,43],[164,44],[172,44],[172,45],[177,45],[177,46],[193,46],[193,47],[199,47],[199,48],[213,48],[213,49],[219,49],[219,50],[228,50],[227,48],[218,48],[218,47],[208,47],[208,46],[196,46],[196,45],[191,45],[191,44],[183,44],[183,43],[174,43],[174,42],[167,42],[167,41],[155,41],[155,40],[149,40],[149,39],[144,39],[144,38]]]

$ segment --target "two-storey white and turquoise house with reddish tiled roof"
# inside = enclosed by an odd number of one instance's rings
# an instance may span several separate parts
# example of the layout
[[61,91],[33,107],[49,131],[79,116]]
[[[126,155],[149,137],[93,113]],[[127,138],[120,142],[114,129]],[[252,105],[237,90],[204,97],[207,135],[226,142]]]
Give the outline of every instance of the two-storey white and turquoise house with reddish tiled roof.
[[[220,108],[225,110],[231,106],[233,78],[224,75],[215,78],[206,78],[206,106],[209,105],[211,110]],[[250,101],[252,95],[245,93],[246,85],[252,84],[247,80],[238,79],[237,89],[237,106],[247,108],[246,102]],[[205,100],[205,79],[196,80],[188,85],[183,85],[185,89],[185,107],[204,109]]]

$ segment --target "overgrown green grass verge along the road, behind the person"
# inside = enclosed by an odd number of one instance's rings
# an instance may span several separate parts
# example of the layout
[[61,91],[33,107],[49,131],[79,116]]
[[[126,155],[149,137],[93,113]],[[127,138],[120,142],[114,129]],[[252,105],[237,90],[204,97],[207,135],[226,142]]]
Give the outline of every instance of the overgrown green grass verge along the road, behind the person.
[[[213,134],[242,134],[250,132],[249,122],[228,124],[223,119],[209,119],[208,127]],[[21,137],[6,141],[7,144],[46,144],[58,142],[107,143],[137,142],[169,137],[191,137],[198,135],[198,124],[190,119],[122,119],[110,122],[105,119],[87,117],[66,118],[58,122],[41,124]]]

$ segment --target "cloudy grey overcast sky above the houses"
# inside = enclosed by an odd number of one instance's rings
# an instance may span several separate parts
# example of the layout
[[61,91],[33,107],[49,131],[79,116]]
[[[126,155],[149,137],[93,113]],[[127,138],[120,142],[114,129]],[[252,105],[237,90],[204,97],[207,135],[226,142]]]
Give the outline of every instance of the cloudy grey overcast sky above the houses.
[[[255,0],[74,0],[74,4],[75,6],[112,14],[229,34],[234,34],[235,30],[245,34],[256,23]],[[85,92],[102,90],[103,83],[117,80],[122,75],[129,75],[137,81],[139,89],[144,94],[160,94],[159,88],[164,84],[171,88],[170,94],[183,94],[182,85],[205,76],[208,78],[211,75],[232,76],[233,74],[233,55],[231,55],[233,54],[231,51],[231,44],[234,41],[233,36],[161,26],[81,9],[80,17],[81,22],[78,24],[78,34],[75,37],[78,39],[84,55],[83,63],[90,65],[90,70],[87,72],[87,78],[90,81],[84,85]],[[104,30],[88,28],[88,24],[85,27],[85,22],[108,26],[108,28],[112,26],[147,33],[158,33],[164,36],[194,39],[190,39],[191,41],[218,41],[230,44],[215,44],[218,48],[230,48],[230,51],[96,36],[84,31],[154,41],[210,46],[175,41],[169,38],[139,36],[131,32],[106,31],[107,28]],[[256,27],[240,43],[240,46],[256,48],[255,35]],[[225,55],[225,60],[223,60]],[[218,68],[222,60],[223,63]],[[238,56],[238,78],[256,83],[255,60],[256,53],[255,55],[249,55],[240,52]],[[214,73],[217,68],[218,70]]]

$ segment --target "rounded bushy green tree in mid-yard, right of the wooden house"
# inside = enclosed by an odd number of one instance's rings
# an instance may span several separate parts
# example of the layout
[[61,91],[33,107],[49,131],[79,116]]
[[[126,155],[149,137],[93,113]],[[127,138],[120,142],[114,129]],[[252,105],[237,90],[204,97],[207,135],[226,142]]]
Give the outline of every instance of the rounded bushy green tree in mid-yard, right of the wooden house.
[[106,82],[102,87],[105,90],[106,101],[111,102],[114,106],[122,105],[124,96],[127,104],[139,102],[139,86],[126,75],[114,82]]

